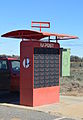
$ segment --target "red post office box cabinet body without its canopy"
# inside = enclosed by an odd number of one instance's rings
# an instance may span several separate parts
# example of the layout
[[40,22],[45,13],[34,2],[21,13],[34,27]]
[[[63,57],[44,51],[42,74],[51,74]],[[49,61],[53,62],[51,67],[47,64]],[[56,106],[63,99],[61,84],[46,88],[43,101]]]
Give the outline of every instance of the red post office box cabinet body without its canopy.
[[37,106],[59,102],[60,45],[22,41],[20,103]]

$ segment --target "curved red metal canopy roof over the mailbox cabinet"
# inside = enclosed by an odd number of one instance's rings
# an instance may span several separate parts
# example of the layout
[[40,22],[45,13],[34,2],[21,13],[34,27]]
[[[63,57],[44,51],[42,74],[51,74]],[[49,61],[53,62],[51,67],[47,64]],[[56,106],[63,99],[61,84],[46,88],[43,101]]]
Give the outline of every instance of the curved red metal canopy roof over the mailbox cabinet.
[[49,32],[40,32],[40,31],[32,31],[32,30],[16,30],[11,31],[6,34],[3,34],[1,37],[7,38],[19,38],[19,39],[33,39],[40,40],[45,37],[55,36],[57,40],[67,40],[67,39],[78,39],[77,36],[71,36],[66,34],[58,34],[58,33],[49,33]]

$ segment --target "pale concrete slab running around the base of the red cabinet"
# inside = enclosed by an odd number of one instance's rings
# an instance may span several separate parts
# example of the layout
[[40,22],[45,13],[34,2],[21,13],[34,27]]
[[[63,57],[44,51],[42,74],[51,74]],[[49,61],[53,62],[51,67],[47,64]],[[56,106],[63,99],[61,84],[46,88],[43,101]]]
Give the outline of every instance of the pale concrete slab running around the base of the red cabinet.
[[15,108],[19,110],[35,110],[60,118],[66,117],[63,120],[67,120],[67,118],[72,118],[76,120],[83,119],[83,97],[60,96],[60,103],[37,107],[27,107],[8,103],[0,103],[0,107],[1,106],[5,106],[10,109]]

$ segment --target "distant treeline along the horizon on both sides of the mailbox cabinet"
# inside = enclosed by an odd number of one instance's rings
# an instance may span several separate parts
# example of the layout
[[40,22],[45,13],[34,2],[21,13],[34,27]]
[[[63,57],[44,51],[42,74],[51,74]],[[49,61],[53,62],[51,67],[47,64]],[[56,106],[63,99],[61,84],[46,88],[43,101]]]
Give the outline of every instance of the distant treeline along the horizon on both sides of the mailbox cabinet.
[[[18,55],[12,55],[12,56],[10,56],[10,55],[3,54],[3,55],[0,55],[0,57],[14,57],[14,58],[20,59],[20,56],[18,56]],[[83,57],[81,58],[81,57],[73,56],[72,55],[71,58],[70,58],[70,60],[71,60],[71,62],[83,62]]]

